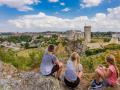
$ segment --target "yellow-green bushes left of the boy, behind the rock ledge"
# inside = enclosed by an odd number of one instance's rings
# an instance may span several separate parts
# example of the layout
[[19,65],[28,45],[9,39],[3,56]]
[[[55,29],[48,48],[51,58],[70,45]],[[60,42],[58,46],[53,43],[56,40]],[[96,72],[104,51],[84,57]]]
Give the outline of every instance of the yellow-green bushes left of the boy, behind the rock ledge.
[[[44,51],[42,49],[36,50],[36,52],[31,51],[30,53],[28,51],[28,56],[24,56],[18,55],[11,49],[5,50],[0,48],[0,60],[4,61],[5,63],[14,65],[19,70],[30,70],[34,69],[34,67],[39,67],[43,53]],[[35,60],[37,60],[37,63]]]

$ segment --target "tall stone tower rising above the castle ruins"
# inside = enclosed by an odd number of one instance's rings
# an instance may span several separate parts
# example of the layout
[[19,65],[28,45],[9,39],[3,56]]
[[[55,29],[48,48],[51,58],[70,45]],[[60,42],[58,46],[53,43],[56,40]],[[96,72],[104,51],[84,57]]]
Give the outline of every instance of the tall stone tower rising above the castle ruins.
[[85,42],[91,42],[91,26],[84,26]]

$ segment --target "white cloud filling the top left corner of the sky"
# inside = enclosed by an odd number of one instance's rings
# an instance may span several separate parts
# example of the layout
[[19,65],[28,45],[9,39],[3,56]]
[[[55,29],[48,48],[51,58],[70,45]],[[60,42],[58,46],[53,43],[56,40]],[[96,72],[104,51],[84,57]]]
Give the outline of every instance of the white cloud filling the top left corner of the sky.
[[0,5],[6,5],[10,8],[16,8],[19,11],[33,10],[30,5],[38,3],[40,3],[40,0],[0,0]]

